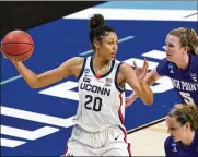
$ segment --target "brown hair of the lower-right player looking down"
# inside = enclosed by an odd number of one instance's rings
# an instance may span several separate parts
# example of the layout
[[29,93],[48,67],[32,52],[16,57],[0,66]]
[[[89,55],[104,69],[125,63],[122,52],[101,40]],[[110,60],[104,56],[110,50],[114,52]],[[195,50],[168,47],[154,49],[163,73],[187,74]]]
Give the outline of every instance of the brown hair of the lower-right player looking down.
[[198,129],[198,108],[195,105],[175,105],[167,116],[176,117],[177,122],[182,125],[189,122],[193,131]]

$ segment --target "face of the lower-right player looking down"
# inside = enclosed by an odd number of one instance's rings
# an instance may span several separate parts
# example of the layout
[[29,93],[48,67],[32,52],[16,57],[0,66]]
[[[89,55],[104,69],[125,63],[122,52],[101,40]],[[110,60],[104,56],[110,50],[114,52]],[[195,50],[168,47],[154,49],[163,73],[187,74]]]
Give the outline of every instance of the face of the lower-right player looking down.
[[185,136],[185,125],[182,126],[180,123],[177,122],[176,117],[166,116],[165,121],[167,133],[170,133],[175,142],[182,141]]

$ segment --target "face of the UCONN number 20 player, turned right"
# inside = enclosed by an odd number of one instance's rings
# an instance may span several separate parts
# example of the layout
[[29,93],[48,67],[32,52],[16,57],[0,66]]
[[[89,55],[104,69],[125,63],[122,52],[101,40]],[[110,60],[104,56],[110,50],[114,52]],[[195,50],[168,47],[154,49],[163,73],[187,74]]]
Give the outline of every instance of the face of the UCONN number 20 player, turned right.
[[117,34],[114,32],[109,32],[108,35],[103,37],[102,43],[100,44],[100,55],[104,58],[104,60],[112,61],[116,58],[117,49]]

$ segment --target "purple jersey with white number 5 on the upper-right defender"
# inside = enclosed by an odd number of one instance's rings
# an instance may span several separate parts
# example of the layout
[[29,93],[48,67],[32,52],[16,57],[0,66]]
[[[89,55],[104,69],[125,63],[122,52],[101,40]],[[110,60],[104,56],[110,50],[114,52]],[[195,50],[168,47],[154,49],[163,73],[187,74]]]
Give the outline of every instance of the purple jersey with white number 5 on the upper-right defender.
[[178,69],[175,63],[163,59],[156,67],[156,72],[168,76],[184,104],[195,104],[198,107],[198,56],[189,55],[186,70]]

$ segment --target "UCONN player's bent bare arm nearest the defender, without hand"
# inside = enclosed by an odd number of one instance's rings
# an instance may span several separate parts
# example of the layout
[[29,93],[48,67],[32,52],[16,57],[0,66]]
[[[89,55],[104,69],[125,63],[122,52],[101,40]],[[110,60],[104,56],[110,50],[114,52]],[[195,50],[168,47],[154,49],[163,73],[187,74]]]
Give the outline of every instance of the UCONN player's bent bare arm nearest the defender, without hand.
[[137,95],[141,98],[143,104],[152,105],[153,92],[151,90],[149,85],[144,82],[144,80],[143,78],[139,80],[136,75],[136,71],[126,63],[121,64],[120,73],[124,76],[126,83],[128,83],[130,87],[137,93]]

